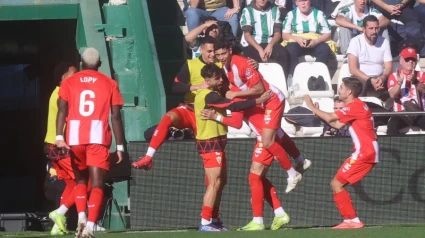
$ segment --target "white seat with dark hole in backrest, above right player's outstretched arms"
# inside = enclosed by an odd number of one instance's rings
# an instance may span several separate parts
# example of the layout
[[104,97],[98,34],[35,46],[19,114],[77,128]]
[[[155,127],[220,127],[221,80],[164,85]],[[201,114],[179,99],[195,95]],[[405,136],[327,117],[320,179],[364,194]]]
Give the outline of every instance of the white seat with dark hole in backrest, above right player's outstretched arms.
[[[312,76],[323,77],[326,83],[326,89],[324,91],[310,91],[308,89],[308,80]],[[331,76],[329,74],[328,67],[321,62],[299,63],[294,71],[293,85],[294,85],[293,87],[294,87],[295,97],[302,97],[305,94],[309,94],[311,97],[314,97],[314,98],[323,98],[323,97],[333,98],[334,96],[334,91],[332,89]]]

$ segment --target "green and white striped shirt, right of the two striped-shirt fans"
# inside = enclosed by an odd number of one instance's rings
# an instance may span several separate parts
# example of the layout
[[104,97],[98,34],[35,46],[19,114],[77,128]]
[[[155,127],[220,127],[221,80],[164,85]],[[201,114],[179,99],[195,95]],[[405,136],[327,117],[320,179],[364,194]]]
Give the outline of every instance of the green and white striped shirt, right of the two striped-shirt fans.
[[325,14],[316,9],[311,8],[307,18],[301,15],[298,8],[290,11],[283,22],[283,33],[300,34],[300,33],[331,33],[331,25],[329,25]]

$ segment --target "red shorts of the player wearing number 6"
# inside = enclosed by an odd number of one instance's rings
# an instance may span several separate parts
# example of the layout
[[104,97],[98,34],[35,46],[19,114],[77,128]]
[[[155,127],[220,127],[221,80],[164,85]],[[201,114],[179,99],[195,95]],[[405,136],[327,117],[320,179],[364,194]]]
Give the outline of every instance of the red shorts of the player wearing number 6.
[[74,145],[71,147],[73,165],[78,170],[87,166],[109,170],[109,148],[104,145]]

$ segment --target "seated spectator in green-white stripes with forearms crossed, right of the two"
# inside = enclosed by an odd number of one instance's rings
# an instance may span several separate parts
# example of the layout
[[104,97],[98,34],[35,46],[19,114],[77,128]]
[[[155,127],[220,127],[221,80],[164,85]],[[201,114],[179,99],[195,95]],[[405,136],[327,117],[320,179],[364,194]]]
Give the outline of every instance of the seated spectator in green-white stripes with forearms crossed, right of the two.
[[286,49],[291,57],[290,78],[299,56],[312,55],[316,57],[316,62],[327,64],[331,52],[326,43],[331,38],[331,26],[325,14],[311,7],[311,0],[295,0],[295,4],[297,7],[288,13],[283,22],[282,34],[283,40],[289,41]]

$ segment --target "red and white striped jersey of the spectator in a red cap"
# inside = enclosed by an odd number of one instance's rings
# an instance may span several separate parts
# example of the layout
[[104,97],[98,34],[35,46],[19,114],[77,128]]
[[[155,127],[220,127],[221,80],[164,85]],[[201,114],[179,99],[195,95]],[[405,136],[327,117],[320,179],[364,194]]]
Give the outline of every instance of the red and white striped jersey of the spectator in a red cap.
[[[396,72],[390,75],[388,78],[388,92],[398,84],[397,81],[397,73],[401,69],[397,69]],[[400,93],[398,96],[394,99],[394,106],[393,111],[395,112],[402,112],[404,110],[403,103],[406,101],[415,101],[422,110],[424,109],[425,105],[425,94],[420,93],[414,84],[412,84],[411,81],[406,80],[406,77],[408,75],[403,73],[403,83],[400,85]],[[416,78],[419,80],[419,82],[425,82],[425,74],[423,72],[416,72]]]

